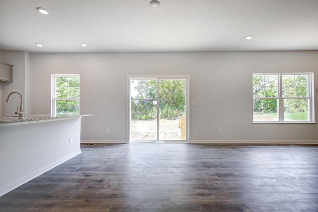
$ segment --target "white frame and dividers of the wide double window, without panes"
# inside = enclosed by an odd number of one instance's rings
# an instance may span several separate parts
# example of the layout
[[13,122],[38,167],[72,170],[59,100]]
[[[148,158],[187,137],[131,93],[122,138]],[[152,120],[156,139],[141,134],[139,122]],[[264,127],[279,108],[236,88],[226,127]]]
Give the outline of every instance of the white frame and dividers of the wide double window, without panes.
[[[277,76],[277,97],[252,97],[252,112],[254,111],[254,100],[255,99],[276,99],[277,100],[277,121],[254,121],[254,116],[252,116],[253,123],[315,123],[315,98],[314,98],[314,73],[253,73],[254,75],[276,75]],[[283,97],[283,85],[282,79],[284,75],[308,75],[308,97]],[[284,120],[284,99],[308,99],[308,121],[285,121]]]

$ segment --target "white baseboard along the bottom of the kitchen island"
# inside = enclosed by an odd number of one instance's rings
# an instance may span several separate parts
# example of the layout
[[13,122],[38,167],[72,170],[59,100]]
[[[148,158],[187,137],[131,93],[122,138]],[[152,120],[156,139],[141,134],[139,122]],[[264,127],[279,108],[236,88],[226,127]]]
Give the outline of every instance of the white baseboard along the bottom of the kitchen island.
[[2,195],[6,194],[6,193],[18,188],[19,186],[29,182],[30,180],[42,175],[43,173],[53,169],[54,167],[64,163],[65,161],[70,160],[71,158],[79,155],[80,153],[81,153],[81,151],[77,150],[77,151],[75,151],[75,152],[73,152],[73,153],[71,153],[71,154],[69,154],[69,155],[67,155],[67,156],[65,156],[65,157],[63,157],[63,158],[61,158],[61,159],[59,159],[59,160],[57,160],[57,161],[45,166],[43,168],[41,168],[41,169],[38,169],[37,171],[35,171],[35,172],[33,172],[33,173],[31,173],[31,174],[29,174],[27,176],[23,176],[22,178],[20,178],[20,179],[14,181],[14,182],[2,187],[2,188],[0,188],[0,197]]

